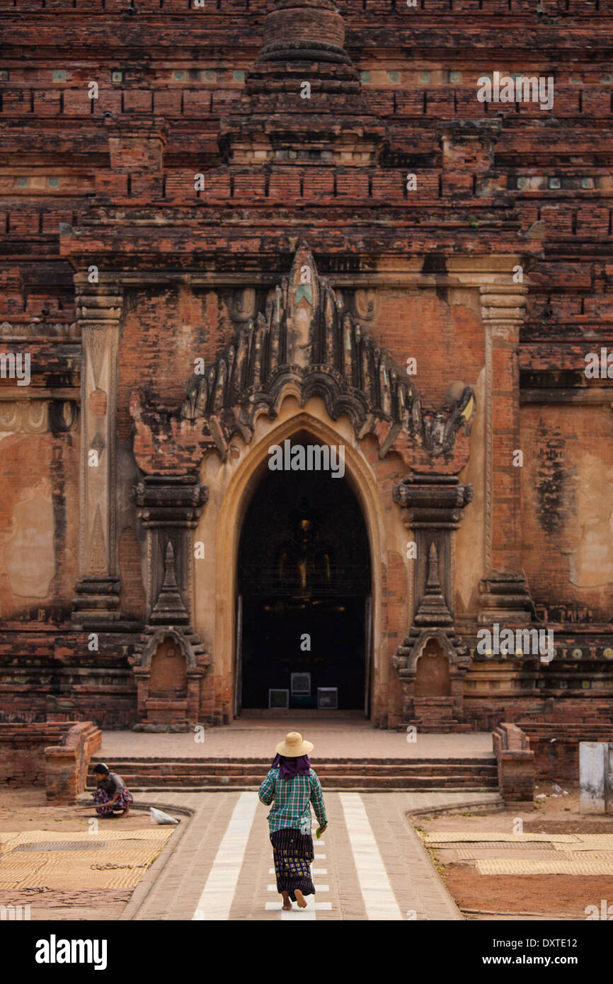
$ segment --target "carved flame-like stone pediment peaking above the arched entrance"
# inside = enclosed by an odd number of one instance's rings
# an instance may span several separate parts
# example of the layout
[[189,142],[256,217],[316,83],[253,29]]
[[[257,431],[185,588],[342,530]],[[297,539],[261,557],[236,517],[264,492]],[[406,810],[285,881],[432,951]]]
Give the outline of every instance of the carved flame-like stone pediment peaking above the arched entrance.
[[274,418],[293,395],[301,405],[321,397],[333,420],[348,416],[358,438],[377,438],[381,458],[394,450],[407,470],[458,474],[468,457],[472,388],[456,385],[441,409],[422,409],[410,377],[365,329],[363,299],[345,303],[319,277],[306,244],[289,276],[255,308],[215,363],[197,366],[202,371],[179,411],[160,411],[133,394],[134,453],[145,472],[197,467],[212,448],[224,459],[233,434],[249,442],[257,416]]

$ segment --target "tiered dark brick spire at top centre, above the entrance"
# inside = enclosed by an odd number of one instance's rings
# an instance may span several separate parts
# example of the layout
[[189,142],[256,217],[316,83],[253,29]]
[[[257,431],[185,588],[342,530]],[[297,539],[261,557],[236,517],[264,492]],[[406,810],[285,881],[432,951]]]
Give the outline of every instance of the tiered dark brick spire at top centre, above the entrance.
[[219,123],[228,164],[296,161],[365,167],[387,146],[387,127],[362,93],[332,0],[276,0],[260,56],[238,105]]

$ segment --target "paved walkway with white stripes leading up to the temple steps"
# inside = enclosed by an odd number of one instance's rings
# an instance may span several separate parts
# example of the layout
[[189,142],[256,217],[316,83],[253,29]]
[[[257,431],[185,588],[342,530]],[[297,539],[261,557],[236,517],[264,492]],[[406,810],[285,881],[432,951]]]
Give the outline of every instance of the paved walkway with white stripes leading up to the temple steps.
[[137,920],[461,919],[406,813],[501,802],[498,793],[327,793],[330,827],[314,841],[315,899],[305,910],[294,905],[282,912],[268,809],[257,793],[144,792],[135,798],[194,811],[121,917]]

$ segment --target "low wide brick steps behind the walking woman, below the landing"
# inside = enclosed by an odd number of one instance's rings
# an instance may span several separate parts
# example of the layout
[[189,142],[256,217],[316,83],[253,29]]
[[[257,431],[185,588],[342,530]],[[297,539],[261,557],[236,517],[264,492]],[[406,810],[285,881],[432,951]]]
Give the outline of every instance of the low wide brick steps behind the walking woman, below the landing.
[[[94,787],[92,766],[89,788]],[[257,788],[270,759],[114,759],[131,789],[228,787]],[[496,760],[485,759],[335,759],[317,766],[324,788],[348,789],[496,789]]]

